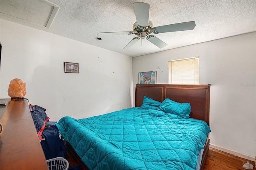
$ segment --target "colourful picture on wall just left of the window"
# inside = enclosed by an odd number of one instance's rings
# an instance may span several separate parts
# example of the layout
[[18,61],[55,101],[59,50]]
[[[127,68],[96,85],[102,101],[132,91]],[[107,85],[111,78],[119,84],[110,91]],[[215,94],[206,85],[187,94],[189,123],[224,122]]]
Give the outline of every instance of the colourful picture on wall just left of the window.
[[157,84],[156,71],[140,72],[139,84]]

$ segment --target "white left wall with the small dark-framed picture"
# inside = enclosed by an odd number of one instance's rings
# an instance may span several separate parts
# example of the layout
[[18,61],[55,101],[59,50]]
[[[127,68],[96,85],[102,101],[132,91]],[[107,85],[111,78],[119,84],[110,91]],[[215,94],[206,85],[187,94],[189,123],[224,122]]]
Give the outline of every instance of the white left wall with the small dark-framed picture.
[[[10,98],[8,85],[19,78],[26,83],[25,97],[46,108],[50,121],[131,107],[131,57],[0,21],[0,98]],[[64,73],[64,61],[79,63],[79,73]]]

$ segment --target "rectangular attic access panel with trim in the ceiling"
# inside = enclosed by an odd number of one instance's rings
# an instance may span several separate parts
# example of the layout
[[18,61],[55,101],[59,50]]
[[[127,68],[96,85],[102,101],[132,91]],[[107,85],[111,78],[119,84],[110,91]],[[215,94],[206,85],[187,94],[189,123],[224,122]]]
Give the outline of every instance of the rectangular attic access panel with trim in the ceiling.
[[50,28],[59,6],[47,0],[1,0],[0,13],[12,19],[24,20]]

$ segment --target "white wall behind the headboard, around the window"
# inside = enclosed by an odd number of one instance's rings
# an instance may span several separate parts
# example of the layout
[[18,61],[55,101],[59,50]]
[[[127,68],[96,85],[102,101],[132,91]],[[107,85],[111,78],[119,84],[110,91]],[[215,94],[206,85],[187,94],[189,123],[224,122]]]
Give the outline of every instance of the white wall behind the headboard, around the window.
[[[256,155],[256,32],[133,58],[138,72],[157,70],[158,83],[168,83],[168,61],[200,57],[200,84],[211,84],[210,142]],[[159,67],[159,69],[158,69]]]

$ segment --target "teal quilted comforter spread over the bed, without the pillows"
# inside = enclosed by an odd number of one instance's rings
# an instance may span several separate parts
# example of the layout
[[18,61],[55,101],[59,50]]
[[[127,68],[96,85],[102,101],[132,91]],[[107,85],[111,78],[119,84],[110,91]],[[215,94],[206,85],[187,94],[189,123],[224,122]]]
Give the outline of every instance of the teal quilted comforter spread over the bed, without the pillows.
[[204,121],[138,107],[56,126],[90,170],[196,169],[210,132]]

